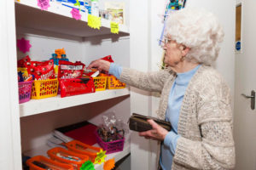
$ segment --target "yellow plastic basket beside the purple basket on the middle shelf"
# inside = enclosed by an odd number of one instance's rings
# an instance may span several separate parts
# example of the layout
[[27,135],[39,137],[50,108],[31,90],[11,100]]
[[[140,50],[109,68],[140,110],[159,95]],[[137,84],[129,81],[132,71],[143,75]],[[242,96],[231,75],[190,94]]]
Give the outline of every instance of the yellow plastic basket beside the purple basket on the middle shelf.
[[58,94],[58,79],[36,80],[32,85],[32,99],[44,99]]

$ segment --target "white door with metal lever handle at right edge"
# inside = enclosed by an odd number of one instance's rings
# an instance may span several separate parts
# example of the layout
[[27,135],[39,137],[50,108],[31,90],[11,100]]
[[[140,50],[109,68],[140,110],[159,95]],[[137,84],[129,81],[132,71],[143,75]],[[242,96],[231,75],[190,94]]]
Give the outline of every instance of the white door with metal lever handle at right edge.
[[241,2],[241,54],[236,54],[234,138],[236,170],[256,170],[256,109],[251,95],[256,91],[256,1]]

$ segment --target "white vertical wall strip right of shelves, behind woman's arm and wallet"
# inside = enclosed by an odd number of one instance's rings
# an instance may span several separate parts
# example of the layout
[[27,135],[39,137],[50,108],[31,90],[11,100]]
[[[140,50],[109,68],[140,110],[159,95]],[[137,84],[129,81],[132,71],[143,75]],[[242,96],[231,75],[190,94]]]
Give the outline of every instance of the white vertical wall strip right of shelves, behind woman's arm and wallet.
[[[130,36],[131,36],[131,68],[148,71],[150,63],[148,0],[130,1]],[[137,88],[131,88],[131,113],[148,115],[150,109],[150,94]],[[150,169],[148,156],[149,143],[147,139],[131,133],[131,169]]]

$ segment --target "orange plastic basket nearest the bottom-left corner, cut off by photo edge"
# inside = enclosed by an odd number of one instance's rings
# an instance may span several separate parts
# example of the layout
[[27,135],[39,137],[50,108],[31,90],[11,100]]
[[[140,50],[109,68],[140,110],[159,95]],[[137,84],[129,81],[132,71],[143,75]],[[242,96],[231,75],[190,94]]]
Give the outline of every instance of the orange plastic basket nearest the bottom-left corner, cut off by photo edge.
[[30,170],[73,170],[73,167],[71,165],[50,160],[49,158],[44,156],[34,156],[27,160],[26,164],[28,165]]

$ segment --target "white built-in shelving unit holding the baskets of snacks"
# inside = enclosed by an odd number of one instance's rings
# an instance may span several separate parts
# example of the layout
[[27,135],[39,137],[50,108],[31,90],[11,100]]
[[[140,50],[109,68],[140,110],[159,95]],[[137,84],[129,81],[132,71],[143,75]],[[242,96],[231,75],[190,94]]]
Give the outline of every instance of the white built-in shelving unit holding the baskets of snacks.
[[[103,57],[104,55],[108,55],[109,52],[112,52],[111,50],[113,49],[108,47],[111,46],[112,43],[119,47],[124,46],[122,41],[125,41],[125,43],[129,41],[129,26],[119,25],[119,35],[113,35],[110,32],[109,20],[102,19],[102,27],[100,30],[92,29],[87,26],[87,14],[84,12],[80,12],[80,14],[82,14],[81,20],[75,20],[70,14],[71,8],[64,7],[61,3],[50,2],[50,8],[45,11],[42,11],[37,3],[38,1],[36,0],[21,0],[20,2],[15,2],[15,26],[17,38],[26,37],[32,42],[33,49],[29,52],[32,59],[43,60],[45,59],[45,55],[49,57],[49,53],[53,52],[52,48],[54,47],[51,46],[57,46],[57,48],[59,48],[59,45],[60,47],[62,45],[67,50],[67,53],[69,53],[67,57],[70,57],[69,59],[71,59],[71,61],[79,59],[88,65],[93,59],[91,56],[96,55],[98,57]],[[112,40],[106,42],[106,38],[111,39],[113,37],[115,39],[114,42],[112,42]],[[120,37],[121,39],[122,37],[125,38],[120,40]],[[102,39],[104,39],[105,42],[102,42]],[[98,42],[98,40],[101,41]],[[42,47],[40,47],[40,44],[44,44],[43,50],[41,50]],[[100,52],[100,48],[105,52]],[[126,51],[130,51],[129,46],[125,46],[125,48]],[[116,55],[119,55],[118,58],[121,56],[120,54]],[[75,58],[73,58],[73,56],[75,56]],[[20,57],[22,57],[22,54],[19,54],[18,51],[18,59]],[[117,60],[121,61],[124,59]],[[123,62],[127,63],[127,60],[129,59],[125,59]],[[51,130],[54,130],[55,127],[84,121],[79,119],[76,121],[71,120],[73,115],[82,116],[84,114],[83,108],[87,107],[85,105],[93,105],[95,109],[102,107],[102,104],[107,105],[106,111],[102,109],[102,113],[100,111],[100,114],[97,114],[96,116],[93,116],[94,113],[92,113],[94,109],[86,109],[86,114],[90,115],[89,117],[92,117],[93,119],[92,122],[99,124],[101,115],[108,111],[121,110],[120,107],[122,106],[120,106],[118,100],[120,99],[120,102],[123,102],[122,100],[124,100],[124,97],[125,100],[129,100],[129,95],[130,89],[122,88],[66,98],[61,98],[58,95],[47,99],[31,99],[29,102],[20,104],[21,152],[26,156],[46,156],[47,150],[50,149],[49,146],[46,145],[46,140],[49,139]],[[118,101],[118,104],[111,100]],[[127,104],[130,105],[128,100],[125,102],[128,102]],[[73,111],[70,110],[71,107],[75,108],[75,112],[79,111],[81,113],[74,114]],[[111,109],[109,110],[108,108]],[[64,113],[58,114],[60,112]],[[121,114],[126,114],[126,116],[120,115],[120,118],[125,117],[125,119],[127,119],[130,111],[124,111],[124,113]],[[45,119],[42,119],[42,117]],[[55,122],[56,120],[58,120],[58,122]],[[90,120],[88,121],[90,122]],[[40,124],[40,127],[44,128],[37,127],[38,124]],[[26,129],[26,132],[24,129]],[[27,142],[31,144],[25,144]],[[114,158],[115,161],[119,161],[123,157],[129,155],[130,152],[129,138],[125,140],[123,151],[108,155],[106,160]],[[95,165],[95,168],[96,170],[102,170],[102,166],[103,164]]]

